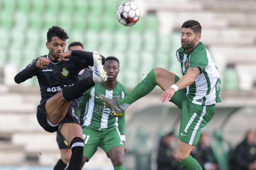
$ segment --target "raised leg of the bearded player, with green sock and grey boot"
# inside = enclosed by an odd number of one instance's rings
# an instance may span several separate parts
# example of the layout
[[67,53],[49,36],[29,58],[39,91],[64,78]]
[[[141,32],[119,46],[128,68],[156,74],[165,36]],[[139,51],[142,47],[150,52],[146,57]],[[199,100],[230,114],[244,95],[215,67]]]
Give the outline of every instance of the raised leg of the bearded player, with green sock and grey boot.
[[120,116],[132,103],[151,92],[156,85],[166,90],[174,84],[174,80],[174,73],[164,68],[156,67],[125,98],[115,101],[106,98],[102,94],[100,98],[114,116]]

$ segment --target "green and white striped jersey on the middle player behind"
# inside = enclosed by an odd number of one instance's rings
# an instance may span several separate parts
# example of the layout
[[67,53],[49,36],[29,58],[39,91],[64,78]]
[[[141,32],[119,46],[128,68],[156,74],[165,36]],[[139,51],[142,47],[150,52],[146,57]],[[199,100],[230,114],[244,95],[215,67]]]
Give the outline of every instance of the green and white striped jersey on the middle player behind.
[[98,83],[90,88],[81,98],[77,114],[80,115],[81,108],[85,106],[85,117],[83,126],[89,126],[97,130],[118,127],[121,134],[125,134],[125,113],[116,118],[108,108],[101,102],[99,95],[104,94],[110,99],[122,99],[128,94],[128,90],[119,82],[112,89],[107,89],[103,83]]

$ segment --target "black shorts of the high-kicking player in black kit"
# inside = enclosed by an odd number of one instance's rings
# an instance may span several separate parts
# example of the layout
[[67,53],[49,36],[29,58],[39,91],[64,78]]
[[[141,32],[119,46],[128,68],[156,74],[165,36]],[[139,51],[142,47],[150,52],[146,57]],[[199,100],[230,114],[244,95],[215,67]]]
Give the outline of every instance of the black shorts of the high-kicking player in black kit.
[[37,106],[36,118],[37,118],[37,121],[38,121],[39,125],[43,129],[45,129],[48,132],[55,132],[55,131],[59,131],[59,128],[60,128],[62,123],[75,123],[75,124],[80,125],[79,118],[76,114],[76,109],[77,109],[77,106],[76,105],[74,106],[71,103],[70,106],[68,107],[67,114],[64,117],[64,119],[61,121],[61,123],[57,126],[51,126],[47,122],[45,103],[41,103],[40,105]]

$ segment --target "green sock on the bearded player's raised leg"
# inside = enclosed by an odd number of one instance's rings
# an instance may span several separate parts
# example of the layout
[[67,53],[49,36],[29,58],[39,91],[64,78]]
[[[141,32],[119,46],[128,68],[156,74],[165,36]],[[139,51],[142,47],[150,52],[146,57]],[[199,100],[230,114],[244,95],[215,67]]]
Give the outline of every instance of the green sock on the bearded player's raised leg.
[[[132,104],[151,92],[156,85],[156,76],[154,69],[152,69],[146,78],[144,78],[125,98],[118,100],[118,105]],[[122,108],[122,106],[120,107]]]

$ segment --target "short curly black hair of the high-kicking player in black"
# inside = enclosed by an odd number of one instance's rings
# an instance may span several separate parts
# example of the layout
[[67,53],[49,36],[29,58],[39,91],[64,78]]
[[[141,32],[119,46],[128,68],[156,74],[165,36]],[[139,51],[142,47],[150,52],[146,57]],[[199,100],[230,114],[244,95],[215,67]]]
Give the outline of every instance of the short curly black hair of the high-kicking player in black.
[[52,26],[47,32],[47,42],[52,41],[52,37],[58,37],[59,39],[66,41],[69,37],[64,29],[58,26]]

